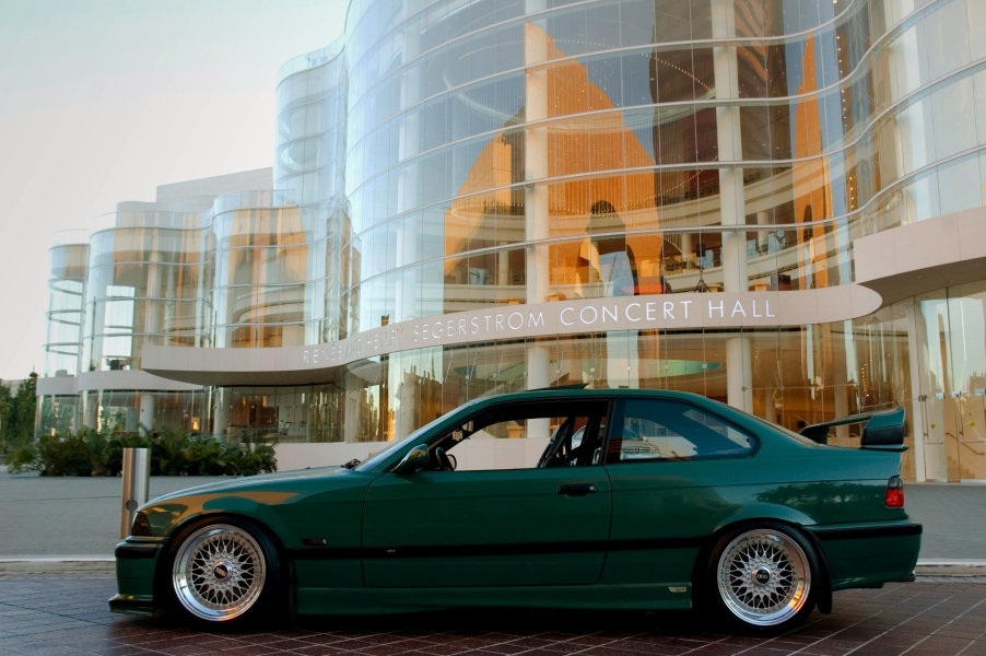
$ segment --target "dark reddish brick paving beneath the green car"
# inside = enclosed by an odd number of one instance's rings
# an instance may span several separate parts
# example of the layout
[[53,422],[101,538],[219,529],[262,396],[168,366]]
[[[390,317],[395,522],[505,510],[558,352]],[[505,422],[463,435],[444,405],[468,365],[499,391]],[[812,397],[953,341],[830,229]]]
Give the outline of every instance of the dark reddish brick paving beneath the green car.
[[785,635],[742,637],[691,612],[459,610],[317,618],[282,631],[204,633],[110,613],[106,574],[0,576],[0,655],[986,656],[986,576],[919,577],[835,594]]

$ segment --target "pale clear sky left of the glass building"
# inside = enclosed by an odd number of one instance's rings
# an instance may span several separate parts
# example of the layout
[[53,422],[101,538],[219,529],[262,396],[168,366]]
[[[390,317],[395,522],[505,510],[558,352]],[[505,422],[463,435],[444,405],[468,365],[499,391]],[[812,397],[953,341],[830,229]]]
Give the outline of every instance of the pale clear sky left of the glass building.
[[273,165],[278,70],[336,40],[344,7],[0,0],[0,379],[44,374],[67,234],[160,185]]

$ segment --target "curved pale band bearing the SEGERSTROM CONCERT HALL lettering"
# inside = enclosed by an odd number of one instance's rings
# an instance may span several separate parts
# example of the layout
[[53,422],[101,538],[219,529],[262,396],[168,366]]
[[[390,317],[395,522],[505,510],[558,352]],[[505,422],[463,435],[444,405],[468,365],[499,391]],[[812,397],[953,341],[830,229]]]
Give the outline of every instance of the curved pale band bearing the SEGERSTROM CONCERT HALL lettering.
[[858,284],[777,292],[678,293],[496,305],[382,326],[325,344],[274,349],[144,347],[142,368],[198,385],[290,385],[331,379],[338,367],[426,347],[553,338],[611,330],[755,329],[849,320],[876,312]]

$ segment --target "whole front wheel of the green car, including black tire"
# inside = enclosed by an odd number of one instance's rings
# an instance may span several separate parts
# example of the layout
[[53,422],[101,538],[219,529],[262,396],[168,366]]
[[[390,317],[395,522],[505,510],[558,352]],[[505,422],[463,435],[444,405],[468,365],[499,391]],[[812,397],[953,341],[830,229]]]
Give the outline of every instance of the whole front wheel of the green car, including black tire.
[[218,518],[176,543],[167,569],[175,607],[193,622],[239,624],[281,595],[278,551],[251,524]]

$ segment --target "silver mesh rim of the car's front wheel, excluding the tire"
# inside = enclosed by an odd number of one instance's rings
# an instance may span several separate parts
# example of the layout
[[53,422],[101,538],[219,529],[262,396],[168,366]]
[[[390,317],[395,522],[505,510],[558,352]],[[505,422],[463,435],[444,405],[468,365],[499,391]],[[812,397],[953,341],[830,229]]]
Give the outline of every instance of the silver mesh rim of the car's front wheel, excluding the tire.
[[186,538],[172,565],[172,586],[196,618],[225,622],[253,608],[263,591],[263,549],[246,530],[210,524]]

